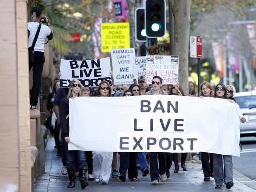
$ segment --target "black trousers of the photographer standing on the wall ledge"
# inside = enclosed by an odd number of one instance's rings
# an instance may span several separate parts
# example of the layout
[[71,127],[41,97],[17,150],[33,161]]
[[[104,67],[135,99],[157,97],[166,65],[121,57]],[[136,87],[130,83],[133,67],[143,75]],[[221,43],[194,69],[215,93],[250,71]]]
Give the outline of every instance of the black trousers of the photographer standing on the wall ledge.
[[29,62],[29,71],[33,68],[33,85],[30,96],[30,105],[37,105],[37,100],[41,88],[41,77],[43,72],[43,67],[45,63],[44,52],[35,51],[34,62]]

